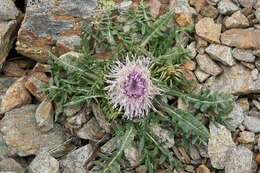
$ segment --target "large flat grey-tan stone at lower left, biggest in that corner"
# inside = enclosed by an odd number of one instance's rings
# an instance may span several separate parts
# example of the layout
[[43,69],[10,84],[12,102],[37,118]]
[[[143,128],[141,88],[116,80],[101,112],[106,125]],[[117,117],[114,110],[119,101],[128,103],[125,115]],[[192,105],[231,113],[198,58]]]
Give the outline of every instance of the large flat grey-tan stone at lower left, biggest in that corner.
[[0,132],[8,152],[22,157],[42,151],[53,157],[63,156],[73,147],[66,144],[64,129],[55,125],[48,133],[42,134],[35,120],[36,109],[37,105],[25,105],[7,112],[1,120]]

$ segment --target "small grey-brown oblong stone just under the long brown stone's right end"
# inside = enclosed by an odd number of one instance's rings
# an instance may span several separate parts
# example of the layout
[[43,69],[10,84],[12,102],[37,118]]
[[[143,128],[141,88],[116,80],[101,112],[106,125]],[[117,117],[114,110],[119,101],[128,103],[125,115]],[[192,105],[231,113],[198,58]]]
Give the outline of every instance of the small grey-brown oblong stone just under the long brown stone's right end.
[[255,62],[255,56],[251,50],[235,48],[232,51],[232,55],[239,61]]

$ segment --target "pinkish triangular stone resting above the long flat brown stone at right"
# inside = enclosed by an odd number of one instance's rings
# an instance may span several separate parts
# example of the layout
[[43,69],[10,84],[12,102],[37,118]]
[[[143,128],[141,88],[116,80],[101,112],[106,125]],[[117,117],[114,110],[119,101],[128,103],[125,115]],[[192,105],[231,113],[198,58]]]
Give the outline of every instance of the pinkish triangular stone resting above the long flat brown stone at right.
[[249,26],[249,21],[241,11],[237,11],[224,20],[224,25],[226,28],[244,28]]

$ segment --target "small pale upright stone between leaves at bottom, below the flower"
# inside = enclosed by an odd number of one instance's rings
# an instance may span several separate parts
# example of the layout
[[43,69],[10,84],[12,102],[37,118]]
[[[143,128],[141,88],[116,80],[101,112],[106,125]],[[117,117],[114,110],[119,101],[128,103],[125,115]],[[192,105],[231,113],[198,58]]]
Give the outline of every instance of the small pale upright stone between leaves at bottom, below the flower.
[[129,161],[132,167],[137,166],[141,157],[139,156],[138,149],[135,143],[130,143],[126,149],[124,149],[124,155],[126,160]]

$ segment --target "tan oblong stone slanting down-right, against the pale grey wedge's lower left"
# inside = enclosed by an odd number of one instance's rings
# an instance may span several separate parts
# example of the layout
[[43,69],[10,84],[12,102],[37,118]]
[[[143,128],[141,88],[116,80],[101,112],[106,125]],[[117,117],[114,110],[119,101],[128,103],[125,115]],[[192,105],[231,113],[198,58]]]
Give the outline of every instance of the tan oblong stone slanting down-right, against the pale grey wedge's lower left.
[[223,71],[207,54],[197,55],[196,60],[200,69],[208,74],[217,76]]

